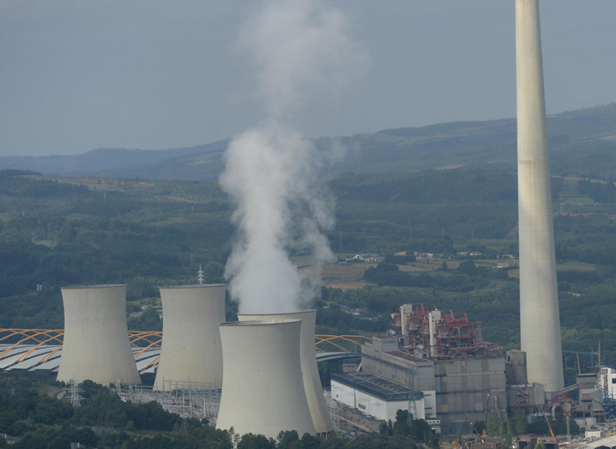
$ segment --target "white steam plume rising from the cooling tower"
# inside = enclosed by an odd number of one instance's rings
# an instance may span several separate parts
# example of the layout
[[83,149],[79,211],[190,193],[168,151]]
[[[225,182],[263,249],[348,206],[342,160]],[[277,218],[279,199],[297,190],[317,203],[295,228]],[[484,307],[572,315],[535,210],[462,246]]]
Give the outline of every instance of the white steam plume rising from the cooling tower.
[[344,14],[310,0],[265,1],[237,48],[254,74],[264,120],[227,149],[220,185],[238,205],[238,232],[225,276],[242,313],[297,311],[317,294],[319,272],[300,276],[290,253],[311,255],[315,266],[334,259],[322,234],[333,227],[333,201],[317,179],[326,161],[298,129],[367,58]]

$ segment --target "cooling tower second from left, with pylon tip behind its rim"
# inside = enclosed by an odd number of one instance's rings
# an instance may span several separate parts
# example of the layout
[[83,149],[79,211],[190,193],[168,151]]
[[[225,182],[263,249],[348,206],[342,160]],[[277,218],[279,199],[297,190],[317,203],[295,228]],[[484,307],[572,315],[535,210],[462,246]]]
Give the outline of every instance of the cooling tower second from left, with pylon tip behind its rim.
[[224,322],[226,291],[226,284],[160,287],[163,337],[155,389],[173,382],[222,387],[218,323]]

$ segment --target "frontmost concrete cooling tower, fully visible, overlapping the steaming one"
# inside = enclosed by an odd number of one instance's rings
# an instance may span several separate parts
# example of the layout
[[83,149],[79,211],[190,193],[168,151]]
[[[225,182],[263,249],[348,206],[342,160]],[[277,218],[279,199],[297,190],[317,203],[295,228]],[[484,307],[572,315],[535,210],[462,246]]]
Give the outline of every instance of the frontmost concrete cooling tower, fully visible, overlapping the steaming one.
[[300,362],[300,320],[218,325],[222,394],[216,428],[276,438],[280,431],[315,435]]

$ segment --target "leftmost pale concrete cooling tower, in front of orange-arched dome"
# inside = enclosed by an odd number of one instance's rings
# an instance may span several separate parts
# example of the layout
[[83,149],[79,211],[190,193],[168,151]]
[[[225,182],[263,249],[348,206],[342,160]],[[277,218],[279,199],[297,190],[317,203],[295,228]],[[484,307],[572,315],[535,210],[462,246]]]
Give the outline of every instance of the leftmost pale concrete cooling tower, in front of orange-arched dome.
[[141,383],[126,325],[126,285],[62,289],[64,346],[57,380]]

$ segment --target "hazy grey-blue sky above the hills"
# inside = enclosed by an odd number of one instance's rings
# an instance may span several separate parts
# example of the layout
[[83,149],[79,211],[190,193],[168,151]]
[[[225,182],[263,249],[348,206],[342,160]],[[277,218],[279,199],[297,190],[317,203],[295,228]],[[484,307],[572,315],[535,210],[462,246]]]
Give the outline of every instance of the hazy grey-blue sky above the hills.
[[[253,126],[237,42],[256,3],[1,0],[0,156],[177,148]],[[307,136],[515,115],[513,0],[326,3],[368,63],[304,112]],[[616,1],[540,3],[548,113],[616,101]]]

